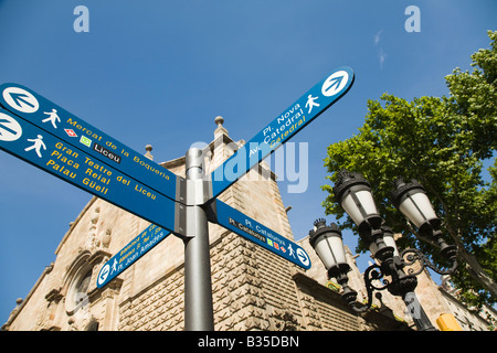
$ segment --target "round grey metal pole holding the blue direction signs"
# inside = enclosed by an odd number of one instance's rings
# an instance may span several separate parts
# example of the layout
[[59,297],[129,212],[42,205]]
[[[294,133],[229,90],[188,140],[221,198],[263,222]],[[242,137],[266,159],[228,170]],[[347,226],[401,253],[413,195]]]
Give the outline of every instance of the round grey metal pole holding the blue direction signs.
[[[187,197],[203,193],[203,153],[191,148],[186,156]],[[184,239],[184,330],[213,331],[209,226],[200,204],[187,206]]]

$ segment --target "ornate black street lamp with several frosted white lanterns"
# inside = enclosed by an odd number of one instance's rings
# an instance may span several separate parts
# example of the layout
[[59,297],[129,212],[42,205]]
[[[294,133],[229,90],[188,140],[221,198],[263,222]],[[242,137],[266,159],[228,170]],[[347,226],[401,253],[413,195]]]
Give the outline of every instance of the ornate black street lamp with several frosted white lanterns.
[[[348,286],[347,272],[350,267],[345,260],[341,232],[338,226],[335,224],[326,226],[324,220],[317,220],[314,229],[309,232],[309,242],[322,260],[328,277],[336,278],[342,286],[341,298],[356,312],[364,312],[371,308],[373,290],[387,289],[391,295],[402,297],[417,330],[435,331],[414,293],[417,286],[416,276],[425,267],[441,275],[452,274],[457,266],[457,248],[454,245],[447,245],[442,238],[441,221],[423,186],[416,181],[405,183],[401,179],[396,180],[394,185],[395,191],[392,192],[394,205],[419,228],[420,233],[436,240],[441,247],[441,256],[452,263],[448,270],[437,268],[417,249],[409,248],[399,253],[393,232],[384,225],[377,210],[370,184],[359,173],[345,170],[339,172],[334,188],[336,201],[358,225],[359,236],[378,260],[378,264],[369,266],[364,271],[367,304],[357,302],[357,292]],[[417,271],[404,270],[415,261],[420,261],[421,265]],[[390,278],[387,279],[385,276]],[[382,285],[378,285],[374,280],[382,280]]]

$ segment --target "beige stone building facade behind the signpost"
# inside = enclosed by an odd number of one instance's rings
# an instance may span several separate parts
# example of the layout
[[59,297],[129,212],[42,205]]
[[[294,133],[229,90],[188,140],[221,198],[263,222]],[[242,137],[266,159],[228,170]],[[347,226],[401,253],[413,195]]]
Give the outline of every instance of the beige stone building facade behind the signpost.
[[[222,118],[215,122],[214,140],[204,149],[208,172],[244,143],[229,137]],[[147,147],[145,156],[152,159],[150,152],[151,147]],[[160,164],[184,176],[184,157]],[[294,240],[276,175],[264,162],[220,199]],[[175,235],[169,235],[104,288],[96,287],[101,267],[148,225],[93,197],[71,223],[55,250],[55,261],[45,268],[28,297],[18,301],[2,330],[183,330],[184,245]],[[376,299],[377,309],[363,315],[345,306],[339,292],[330,289],[334,286],[307,238],[298,242],[311,257],[313,267],[305,271],[219,225],[209,224],[209,236],[215,330],[413,328],[404,315],[402,300],[388,293],[381,303]],[[347,256],[352,267],[349,282],[362,299],[366,295],[362,276],[350,250]],[[431,292],[437,292],[429,277],[421,276],[419,287],[421,291],[431,288]],[[448,310],[427,295],[419,297],[433,323],[443,310]]]

